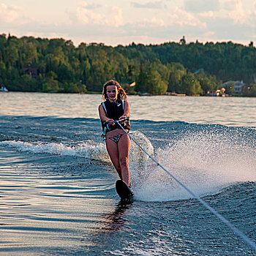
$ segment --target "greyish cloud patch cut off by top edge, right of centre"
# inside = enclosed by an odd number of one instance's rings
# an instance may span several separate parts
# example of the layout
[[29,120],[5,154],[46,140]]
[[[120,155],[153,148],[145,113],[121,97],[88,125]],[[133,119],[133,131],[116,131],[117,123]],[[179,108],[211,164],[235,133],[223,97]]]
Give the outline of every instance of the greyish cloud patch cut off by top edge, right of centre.
[[208,12],[219,10],[219,0],[184,0],[187,12]]

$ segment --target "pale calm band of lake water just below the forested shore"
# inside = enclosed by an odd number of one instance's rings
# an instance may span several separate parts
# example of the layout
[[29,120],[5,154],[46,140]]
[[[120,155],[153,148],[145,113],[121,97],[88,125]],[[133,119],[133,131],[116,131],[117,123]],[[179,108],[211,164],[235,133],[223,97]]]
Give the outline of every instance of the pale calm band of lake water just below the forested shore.
[[[256,127],[256,98],[129,96],[132,119]],[[1,114],[99,118],[100,94],[0,94]]]

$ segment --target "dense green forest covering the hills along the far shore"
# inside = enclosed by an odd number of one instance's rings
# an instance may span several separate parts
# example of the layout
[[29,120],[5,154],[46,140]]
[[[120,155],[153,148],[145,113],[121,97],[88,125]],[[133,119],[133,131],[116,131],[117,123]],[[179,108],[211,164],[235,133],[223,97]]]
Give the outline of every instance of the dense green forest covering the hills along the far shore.
[[[9,91],[99,93],[115,79],[129,94],[204,95],[243,80],[256,96],[256,48],[233,42],[103,43],[0,34],[0,87]],[[135,82],[135,83],[134,83]],[[129,86],[130,84],[135,86]],[[233,94],[233,86],[226,89]]]

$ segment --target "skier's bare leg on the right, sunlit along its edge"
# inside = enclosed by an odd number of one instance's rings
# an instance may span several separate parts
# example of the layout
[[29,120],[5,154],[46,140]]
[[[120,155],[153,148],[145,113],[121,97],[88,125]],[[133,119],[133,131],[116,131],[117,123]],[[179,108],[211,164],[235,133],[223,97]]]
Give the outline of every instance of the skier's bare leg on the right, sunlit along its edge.
[[121,136],[118,141],[118,155],[119,155],[119,164],[121,167],[121,176],[124,182],[129,186],[131,183],[130,174],[129,174],[129,150],[131,148],[131,140],[127,134]]

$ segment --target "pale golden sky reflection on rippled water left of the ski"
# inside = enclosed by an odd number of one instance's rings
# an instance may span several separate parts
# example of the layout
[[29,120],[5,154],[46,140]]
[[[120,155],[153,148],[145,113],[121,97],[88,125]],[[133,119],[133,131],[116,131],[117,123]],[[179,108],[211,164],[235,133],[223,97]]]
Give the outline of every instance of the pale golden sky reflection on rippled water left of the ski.
[[67,168],[72,157],[60,160],[45,155],[22,157],[0,148],[1,254],[69,254],[69,249],[90,246],[88,234],[99,230],[99,216],[113,209],[113,200],[102,195],[113,190],[113,177],[106,173],[101,181],[91,180],[81,173],[78,159],[77,170]]

